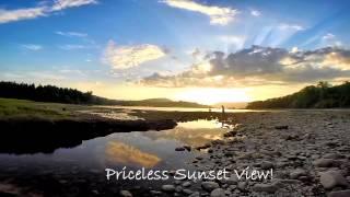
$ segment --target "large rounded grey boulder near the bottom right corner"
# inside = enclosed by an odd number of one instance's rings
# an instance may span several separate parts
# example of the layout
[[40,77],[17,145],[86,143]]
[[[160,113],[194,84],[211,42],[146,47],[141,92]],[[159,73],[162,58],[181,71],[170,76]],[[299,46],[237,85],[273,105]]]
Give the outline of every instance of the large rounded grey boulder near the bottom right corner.
[[336,186],[348,186],[347,179],[339,171],[319,173],[319,181],[326,189],[331,189]]

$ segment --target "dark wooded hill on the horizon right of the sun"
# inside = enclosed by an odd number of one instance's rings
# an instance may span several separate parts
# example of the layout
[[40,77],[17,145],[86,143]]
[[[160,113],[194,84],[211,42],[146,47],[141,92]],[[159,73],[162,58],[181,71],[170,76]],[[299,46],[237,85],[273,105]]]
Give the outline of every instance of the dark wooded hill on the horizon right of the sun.
[[338,108],[350,107],[350,82],[331,86],[328,82],[305,86],[301,91],[266,101],[248,103],[246,108]]

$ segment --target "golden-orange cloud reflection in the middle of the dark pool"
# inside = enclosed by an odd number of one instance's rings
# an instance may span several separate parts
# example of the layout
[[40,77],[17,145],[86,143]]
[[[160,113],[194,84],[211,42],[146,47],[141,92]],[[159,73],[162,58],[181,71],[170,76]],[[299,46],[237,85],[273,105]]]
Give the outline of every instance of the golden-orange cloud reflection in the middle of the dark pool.
[[161,159],[140,149],[118,141],[109,141],[106,146],[107,160],[124,164],[143,167],[155,166]]

